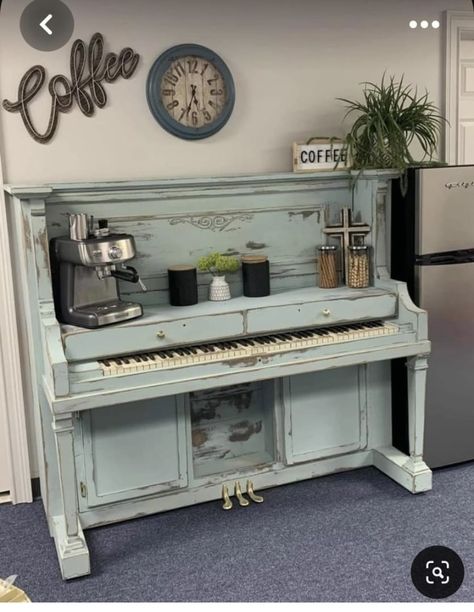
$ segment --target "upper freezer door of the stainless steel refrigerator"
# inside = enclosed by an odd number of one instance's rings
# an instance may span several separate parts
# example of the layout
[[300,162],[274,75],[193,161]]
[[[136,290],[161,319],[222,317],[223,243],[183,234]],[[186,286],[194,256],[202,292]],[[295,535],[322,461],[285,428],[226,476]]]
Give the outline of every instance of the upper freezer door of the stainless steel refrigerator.
[[474,166],[417,173],[418,255],[474,247]]

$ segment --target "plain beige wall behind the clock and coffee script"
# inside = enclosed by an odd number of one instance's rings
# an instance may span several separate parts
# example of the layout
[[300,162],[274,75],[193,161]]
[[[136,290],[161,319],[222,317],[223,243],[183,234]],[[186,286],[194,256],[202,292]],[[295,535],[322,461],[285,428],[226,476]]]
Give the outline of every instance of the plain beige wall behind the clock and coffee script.
[[[0,95],[16,99],[20,77],[42,63],[66,73],[70,44],[40,53],[22,39],[18,20],[29,0],[4,0],[0,19]],[[0,111],[5,180],[45,182],[225,175],[290,169],[290,144],[341,134],[337,96],[384,70],[442,99],[442,30],[412,31],[411,18],[441,19],[472,10],[469,0],[68,0],[76,37],[104,33],[109,50],[130,45],[142,60],[130,81],[107,86],[109,104],[93,119],[77,108],[61,115],[48,145],[35,143],[18,114]],[[222,55],[237,90],[229,124],[212,138],[186,142],[153,119],[145,82],[166,48],[197,42]],[[47,94],[34,103],[44,129]]]

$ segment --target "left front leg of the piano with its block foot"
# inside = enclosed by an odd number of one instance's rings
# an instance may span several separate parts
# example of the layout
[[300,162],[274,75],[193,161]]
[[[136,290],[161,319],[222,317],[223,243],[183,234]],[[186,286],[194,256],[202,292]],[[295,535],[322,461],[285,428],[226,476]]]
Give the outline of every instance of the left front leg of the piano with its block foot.
[[74,465],[73,416],[55,416],[52,429],[56,442],[62,513],[51,517],[62,577],[90,574],[89,549],[78,515],[76,470]]

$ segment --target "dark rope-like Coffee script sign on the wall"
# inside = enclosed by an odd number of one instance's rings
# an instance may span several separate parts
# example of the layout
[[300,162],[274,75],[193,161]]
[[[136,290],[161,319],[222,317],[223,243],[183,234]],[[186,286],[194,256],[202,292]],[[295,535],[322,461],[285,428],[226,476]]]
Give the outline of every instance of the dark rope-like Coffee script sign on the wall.
[[36,65],[27,70],[18,86],[18,100],[3,101],[3,108],[11,113],[20,113],[28,133],[40,143],[46,143],[54,136],[59,113],[71,110],[74,101],[86,117],[91,117],[95,107],[104,108],[107,93],[103,82],[113,83],[119,77],[128,79],[135,72],[140,56],[130,47],[120,54],[107,53],[104,57],[104,38],[94,34],[89,46],[83,40],[76,40],[71,48],[71,78],[62,74],[51,78],[48,91],[51,96],[51,110],[46,131],[39,132],[33,125],[28,105],[41,91],[46,71]]

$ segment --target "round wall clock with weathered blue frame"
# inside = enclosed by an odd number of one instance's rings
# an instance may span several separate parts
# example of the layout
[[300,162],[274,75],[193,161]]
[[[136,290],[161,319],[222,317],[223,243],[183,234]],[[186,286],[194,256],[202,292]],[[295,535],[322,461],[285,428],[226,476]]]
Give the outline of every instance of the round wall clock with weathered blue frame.
[[188,140],[207,138],[223,128],[232,113],[234,80],[214,51],[177,45],[151,67],[147,100],[155,119],[171,134]]

